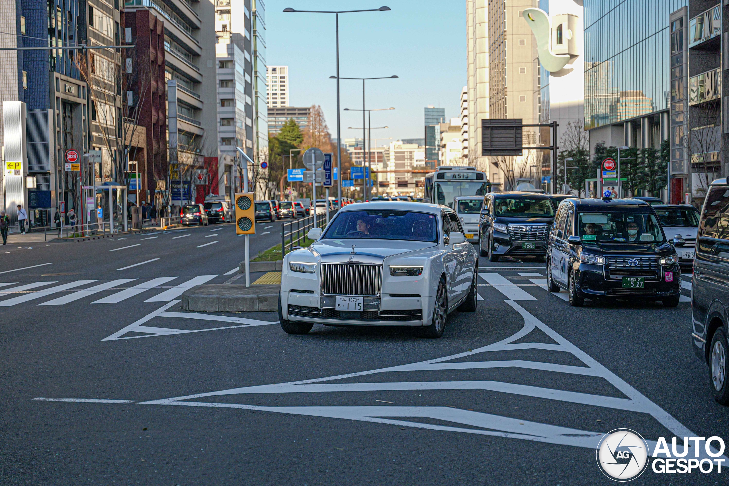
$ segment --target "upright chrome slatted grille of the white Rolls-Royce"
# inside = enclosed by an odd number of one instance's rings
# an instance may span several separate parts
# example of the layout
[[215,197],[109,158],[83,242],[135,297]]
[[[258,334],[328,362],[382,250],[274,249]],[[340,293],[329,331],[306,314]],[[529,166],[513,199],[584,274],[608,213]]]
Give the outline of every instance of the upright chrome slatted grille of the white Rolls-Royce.
[[380,294],[381,265],[321,264],[321,292],[330,295]]

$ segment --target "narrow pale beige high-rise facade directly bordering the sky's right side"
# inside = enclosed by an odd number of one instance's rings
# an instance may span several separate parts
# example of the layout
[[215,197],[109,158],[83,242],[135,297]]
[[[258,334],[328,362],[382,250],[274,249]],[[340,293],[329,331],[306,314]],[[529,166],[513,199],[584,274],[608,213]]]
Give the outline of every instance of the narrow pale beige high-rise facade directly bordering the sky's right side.
[[[488,112],[488,0],[466,0],[468,164],[489,168],[481,156],[481,120]],[[462,112],[461,108],[461,112]]]

